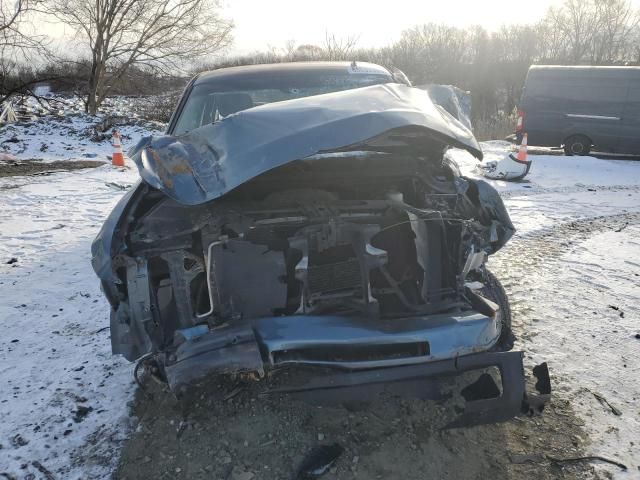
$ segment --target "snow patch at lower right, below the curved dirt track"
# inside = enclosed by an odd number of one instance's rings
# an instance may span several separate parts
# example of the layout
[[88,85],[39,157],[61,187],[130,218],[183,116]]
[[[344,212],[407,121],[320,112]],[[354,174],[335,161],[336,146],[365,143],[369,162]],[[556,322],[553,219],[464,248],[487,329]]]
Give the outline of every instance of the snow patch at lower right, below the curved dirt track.
[[574,399],[592,453],[638,478],[640,225],[618,229],[577,242],[537,279],[528,331],[533,355],[553,365],[560,394]]

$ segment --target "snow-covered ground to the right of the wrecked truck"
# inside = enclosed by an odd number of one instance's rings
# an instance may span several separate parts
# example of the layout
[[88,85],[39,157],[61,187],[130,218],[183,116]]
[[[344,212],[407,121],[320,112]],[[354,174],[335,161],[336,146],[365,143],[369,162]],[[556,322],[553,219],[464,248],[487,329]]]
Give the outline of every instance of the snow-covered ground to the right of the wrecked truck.
[[[505,142],[483,143],[485,158],[505,154]],[[475,159],[449,154],[467,175],[479,177]],[[640,212],[640,162],[594,157],[531,156],[522,182],[490,181],[504,198],[526,257],[526,239],[558,225]],[[480,177],[479,177],[480,178]],[[571,398],[585,422],[594,455],[629,467],[600,467],[615,478],[640,477],[640,225],[575,238],[545,239],[560,250],[551,268],[530,281],[533,291],[506,285],[512,302],[535,308],[525,318],[530,364],[549,362],[555,395]],[[508,246],[509,247],[509,246]],[[500,261],[498,254],[495,260]],[[509,260],[507,260],[508,262]],[[508,264],[506,266],[508,270]]]

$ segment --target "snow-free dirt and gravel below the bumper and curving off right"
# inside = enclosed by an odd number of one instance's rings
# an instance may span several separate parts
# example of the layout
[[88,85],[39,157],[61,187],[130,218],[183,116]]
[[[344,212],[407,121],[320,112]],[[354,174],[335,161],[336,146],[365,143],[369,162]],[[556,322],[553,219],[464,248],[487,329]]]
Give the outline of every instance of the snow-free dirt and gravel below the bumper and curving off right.
[[[576,221],[512,241],[490,267],[512,301],[516,348],[535,342],[532,321],[536,273],[553,268],[572,242],[599,231],[640,223],[624,214]],[[531,365],[530,365],[531,366]],[[134,414],[139,427],[126,443],[118,479],[291,479],[304,455],[319,444],[345,452],[326,479],[593,479],[608,478],[579,457],[589,443],[583,422],[554,375],[553,401],[541,417],[500,425],[440,430],[442,410],[431,403],[384,398],[366,410],[318,408],[287,399],[258,398],[251,383],[212,384],[181,404],[149,383]]]

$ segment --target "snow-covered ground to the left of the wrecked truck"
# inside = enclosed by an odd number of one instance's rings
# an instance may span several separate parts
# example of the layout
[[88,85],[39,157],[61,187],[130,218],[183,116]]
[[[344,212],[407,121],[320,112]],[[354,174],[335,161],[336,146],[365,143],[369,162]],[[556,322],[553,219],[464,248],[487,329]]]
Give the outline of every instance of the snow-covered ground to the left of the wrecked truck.
[[[0,151],[107,162],[108,140],[85,133],[98,121],[10,125],[0,130]],[[159,131],[148,126],[122,127],[124,148]],[[44,468],[55,478],[104,478],[117,462],[131,428],[132,367],[111,355],[109,307],[90,245],[137,178],[129,162],[0,178],[0,474],[44,478]]]

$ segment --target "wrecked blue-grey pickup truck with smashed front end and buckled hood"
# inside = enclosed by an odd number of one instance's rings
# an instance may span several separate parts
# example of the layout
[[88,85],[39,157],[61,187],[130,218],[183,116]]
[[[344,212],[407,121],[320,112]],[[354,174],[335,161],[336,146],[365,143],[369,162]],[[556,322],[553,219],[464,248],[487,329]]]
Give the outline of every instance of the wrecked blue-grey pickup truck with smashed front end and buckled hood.
[[[93,247],[113,352],[180,394],[246,374],[308,400],[450,398],[452,426],[541,411],[527,394],[487,256],[514,227],[461,176],[473,135],[371,64],[223,69],[187,87],[166,136],[130,156],[141,181]],[[274,387],[279,372],[296,371]]]

